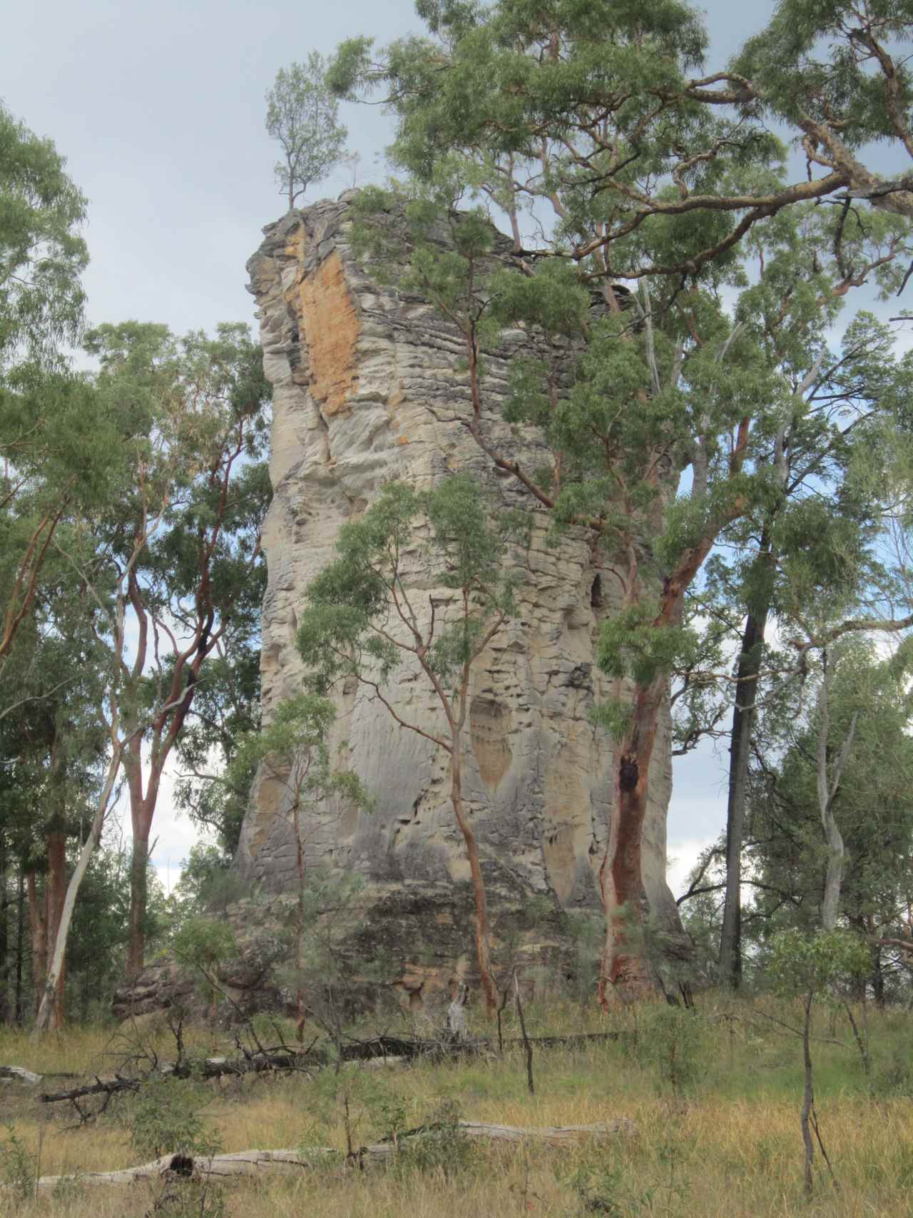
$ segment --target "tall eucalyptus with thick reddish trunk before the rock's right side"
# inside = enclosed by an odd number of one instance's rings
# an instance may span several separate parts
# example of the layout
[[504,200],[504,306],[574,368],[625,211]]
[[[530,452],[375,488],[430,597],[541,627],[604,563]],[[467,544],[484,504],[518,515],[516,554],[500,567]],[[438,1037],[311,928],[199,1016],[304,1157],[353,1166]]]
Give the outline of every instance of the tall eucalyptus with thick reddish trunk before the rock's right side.
[[[851,287],[887,281],[885,268],[907,251],[906,224],[875,213],[863,223],[848,205],[829,218],[796,209],[850,179],[836,169],[786,178],[783,149],[763,122],[761,86],[734,73],[704,74],[706,35],[688,5],[505,0],[482,9],[427,0],[419,12],[427,37],[376,54],[369,40],[353,39],[340,48],[329,80],[349,97],[383,91],[398,118],[394,162],[444,211],[476,192],[510,218],[522,274],[512,286],[486,296],[478,238],[475,250],[469,238],[463,247],[461,283],[475,290],[442,283],[431,269],[441,252],[433,240],[413,269],[465,337],[466,423],[481,447],[539,508],[628,553],[627,574],[616,563],[623,611],[606,627],[603,664],[620,681],[633,677],[642,694],[628,699],[627,726],[626,716],[607,719],[618,773],[601,879],[606,907],[621,903],[642,922],[646,769],[668,671],[695,659],[683,596],[723,531],[775,496],[775,475],[763,466],[812,373],[806,362],[794,375],[796,352],[819,353],[816,326]],[[757,236],[745,253],[750,234]],[[754,300],[775,334],[755,324],[740,263],[749,256],[763,266]],[[632,296],[618,279],[643,286]],[[598,326],[589,324],[584,287],[609,313]],[[721,306],[726,287],[744,295],[734,323]],[[556,406],[562,373],[554,361],[545,367],[550,357],[536,371],[527,367],[523,385],[515,368],[508,415],[545,425],[555,453],[550,485],[484,434],[478,370],[499,314],[540,326],[547,339],[582,342],[578,402],[587,380],[590,404],[604,398],[605,417],[594,423],[586,410]],[[699,406],[701,395],[711,408]],[[689,397],[687,418],[677,408]],[[724,402],[741,413],[727,417]],[[689,465],[691,491],[676,503]],[[612,933],[623,939],[620,924]],[[607,948],[603,995],[627,972],[637,984],[650,970]]]

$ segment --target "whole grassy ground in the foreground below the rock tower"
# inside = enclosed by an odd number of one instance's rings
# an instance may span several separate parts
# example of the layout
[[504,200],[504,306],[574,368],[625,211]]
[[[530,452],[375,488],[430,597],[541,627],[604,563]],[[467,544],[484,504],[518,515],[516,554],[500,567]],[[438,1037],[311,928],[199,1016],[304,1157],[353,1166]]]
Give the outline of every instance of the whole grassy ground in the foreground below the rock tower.
[[[855,1013],[862,1030],[863,1012],[856,1007]],[[0,1213],[22,1218],[913,1214],[913,1015],[907,1011],[866,1012],[867,1077],[846,1013],[818,1009],[812,1043],[816,1110],[833,1174],[816,1145],[811,1202],[802,1189],[801,1041],[783,1026],[799,1027],[799,1007],[772,999],[733,1002],[700,995],[694,1013],[657,1006],[603,1018],[595,1011],[553,1005],[531,1007],[527,1022],[531,1034],[615,1030],[620,1035],[583,1049],[540,1049],[534,1058],[534,1095],[528,1093],[523,1055],[516,1050],[503,1057],[492,1052],[382,1069],[348,1065],[338,1074],[330,1068],[313,1078],[174,1083],[174,1089],[191,1089],[187,1112],[192,1108],[224,1151],[345,1150],[347,1121],[354,1145],[429,1122],[438,1122],[443,1130],[410,1141],[383,1166],[359,1168],[336,1157],[293,1177],[267,1173],[205,1191],[186,1184],[99,1186],[79,1180],[78,1173],[155,1157],[138,1151],[134,1096],[118,1097],[103,1117],[80,1127],[67,1105],[37,1099],[41,1090],[62,1089],[69,1082],[49,1078],[38,1088],[1,1083],[6,1141],[0,1149],[0,1181],[7,1179],[12,1188],[0,1194]],[[470,1026],[480,1035],[492,1034],[481,1013]],[[517,1030],[508,1021],[505,1034]],[[111,1074],[111,1035],[103,1028],[71,1029],[32,1045],[26,1033],[0,1029],[0,1063],[35,1072]],[[168,1034],[158,1037],[162,1057],[173,1057]],[[212,1051],[206,1029],[196,1029],[190,1041],[201,1054]],[[228,1040],[220,1046],[223,1052],[230,1047]],[[448,1124],[455,1113],[525,1128],[621,1117],[637,1132],[560,1150],[470,1144]],[[146,1110],[146,1129],[149,1119]],[[74,1173],[77,1179],[29,1200],[29,1173]]]

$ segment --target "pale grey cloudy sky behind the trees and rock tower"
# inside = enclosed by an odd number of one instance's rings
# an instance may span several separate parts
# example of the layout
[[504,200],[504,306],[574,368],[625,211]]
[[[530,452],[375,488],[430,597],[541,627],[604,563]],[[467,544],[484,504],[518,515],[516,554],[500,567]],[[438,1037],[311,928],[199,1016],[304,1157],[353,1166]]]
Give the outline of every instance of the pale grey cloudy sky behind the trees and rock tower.
[[[711,0],[711,63],[719,66],[772,10],[773,0]],[[261,228],[285,209],[263,129],[276,71],[354,34],[385,43],[419,29],[408,0],[7,4],[0,97],[54,139],[89,199],[89,320],[139,318],[177,331],[252,322],[245,262]],[[359,183],[383,180],[390,119],[379,107],[348,106],[345,121],[362,156]],[[351,180],[343,169],[315,197]],[[711,750],[677,765],[676,877],[723,826],[723,777]],[[163,875],[170,864],[174,878],[192,831],[162,806],[153,837],[156,861]]]

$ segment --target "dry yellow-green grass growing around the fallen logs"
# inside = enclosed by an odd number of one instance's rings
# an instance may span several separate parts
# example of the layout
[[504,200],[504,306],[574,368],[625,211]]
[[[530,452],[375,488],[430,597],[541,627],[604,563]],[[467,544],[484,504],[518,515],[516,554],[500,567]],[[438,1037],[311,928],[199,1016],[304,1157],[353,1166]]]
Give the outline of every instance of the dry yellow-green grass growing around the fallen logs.
[[[469,1161],[426,1169],[365,1172],[332,1166],[307,1179],[239,1181],[220,1188],[230,1218],[487,1218],[489,1214],[570,1216],[584,1213],[568,1178],[581,1166],[605,1178],[601,1209],[606,1214],[701,1214],[707,1218],[773,1218],[784,1214],[862,1218],[913,1213],[913,1104],[902,1078],[911,1037],[908,1017],[892,1015],[873,1022],[875,1073],[881,1093],[868,1095],[852,1047],[819,1041],[818,1114],[822,1136],[835,1167],[838,1192],[820,1158],[816,1197],[801,1192],[799,1043],[756,1012],[739,1010],[734,1023],[719,1018],[723,1009],[704,1002],[693,1037],[696,1078],[672,1093],[660,1078],[655,1055],[644,1049],[652,1033],[639,1017],[640,1049],[632,1050],[631,1019],[618,1023],[621,1043],[583,1052],[550,1051],[537,1057],[537,1094],[525,1089],[521,1060],[420,1065],[383,1072],[343,1071],[357,1141],[383,1132],[383,1101],[396,1095],[404,1124],[426,1119],[442,1101],[455,1101],[463,1116],[517,1125],[583,1124],[624,1116],[639,1135],[605,1147],[544,1151],[472,1146]],[[774,1012],[789,1021],[784,1010]],[[536,1012],[533,1012],[536,1015]],[[685,1017],[689,1018],[689,1017]],[[539,1012],[537,1023],[554,1028],[576,1023],[571,1009]],[[732,1033],[730,1033],[732,1027]],[[834,1033],[846,1040],[844,1027]],[[825,1017],[818,1032],[831,1029]],[[689,1033],[690,1035],[690,1033]],[[33,1055],[22,1037],[0,1034],[0,1061],[30,1068],[72,1068],[78,1061],[97,1068],[105,1035],[72,1033]],[[163,1043],[162,1047],[166,1047]],[[82,1068],[82,1067],[80,1067]],[[894,1082],[894,1094],[885,1080]],[[321,1075],[275,1082],[248,1079],[212,1086],[206,1114],[225,1150],[295,1147],[303,1144],[345,1145],[342,1105],[334,1080]],[[19,1136],[38,1151],[44,1174],[106,1170],[138,1162],[123,1124],[105,1121],[67,1129],[58,1114],[43,1122],[24,1093],[11,1100],[5,1088],[6,1117],[16,1112]],[[450,1164],[453,1166],[453,1164]],[[1,1203],[1,1202],[0,1202]],[[68,1197],[44,1197],[15,1212],[22,1218],[144,1216],[153,1195],[147,1185],[131,1189],[88,1189]],[[614,1208],[612,1208],[614,1207]]]

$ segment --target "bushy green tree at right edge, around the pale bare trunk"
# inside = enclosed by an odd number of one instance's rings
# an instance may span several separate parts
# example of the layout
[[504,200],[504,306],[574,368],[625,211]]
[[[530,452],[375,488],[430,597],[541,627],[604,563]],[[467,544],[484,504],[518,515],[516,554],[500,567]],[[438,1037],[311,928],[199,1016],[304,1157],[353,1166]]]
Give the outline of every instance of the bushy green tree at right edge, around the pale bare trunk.
[[[755,951],[766,959],[772,935],[784,927],[848,927],[869,943],[879,1001],[886,991],[879,940],[906,933],[913,900],[908,647],[884,659],[872,639],[851,641],[829,659],[824,698],[825,674],[816,665],[812,688],[801,697],[794,688],[775,713],[772,706],[760,725],[749,799]],[[836,856],[822,817],[825,769],[824,811],[840,838]]]

